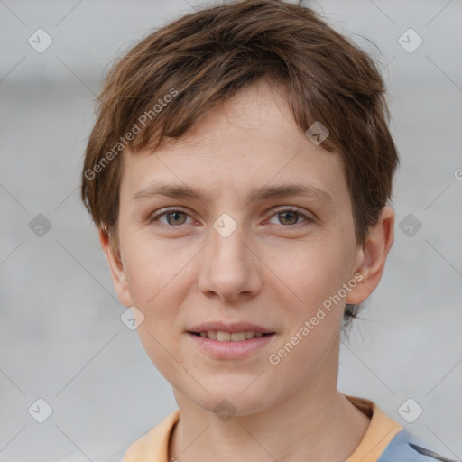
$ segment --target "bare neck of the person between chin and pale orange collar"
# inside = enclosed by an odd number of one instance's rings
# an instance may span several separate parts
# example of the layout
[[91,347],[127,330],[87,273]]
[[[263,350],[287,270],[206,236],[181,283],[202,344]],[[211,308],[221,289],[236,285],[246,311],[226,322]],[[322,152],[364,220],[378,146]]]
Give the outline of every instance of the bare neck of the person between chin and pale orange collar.
[[251,414],[236,412],[226,421],[175,389],[180,421],[171,435],[169,460],[345,462],[370,419],[337,391],[337,372],[331,375],[329,381],[322,376],[300,386],[283,402]]

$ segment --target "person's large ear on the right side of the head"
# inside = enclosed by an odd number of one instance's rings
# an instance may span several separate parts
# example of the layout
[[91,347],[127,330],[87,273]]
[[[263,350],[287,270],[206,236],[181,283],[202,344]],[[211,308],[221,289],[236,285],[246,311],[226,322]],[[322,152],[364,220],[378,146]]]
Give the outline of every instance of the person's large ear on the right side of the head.
[[386,257],[393,245],[393,226],[393,208],[385,206],[377,224],[369,228],[365,244],[358,249],[356,254],[355,273],[361,273],[363,278],[356,284],[354,289],[348,292],[347,303],[357,304],[363,302],[380,282]]

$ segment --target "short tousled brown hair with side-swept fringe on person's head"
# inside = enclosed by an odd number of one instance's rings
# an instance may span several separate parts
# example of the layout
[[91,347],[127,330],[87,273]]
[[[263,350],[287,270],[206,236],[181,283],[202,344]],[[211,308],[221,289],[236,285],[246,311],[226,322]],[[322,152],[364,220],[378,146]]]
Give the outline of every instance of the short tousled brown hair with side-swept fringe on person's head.
[[[117,234],[119,151],[179,138],[238,90],[270,79],[284,88],[300,132],[317,121],[328,127],[321,145],[342,156],[356,241],[365,242],[398,164],[385,86],[365,51],[300,4],[241,0],[187,14],[115,62],[98,96],[81,177],[81,198],[99,228]],[[344,320],[358,308],[347,305]]]

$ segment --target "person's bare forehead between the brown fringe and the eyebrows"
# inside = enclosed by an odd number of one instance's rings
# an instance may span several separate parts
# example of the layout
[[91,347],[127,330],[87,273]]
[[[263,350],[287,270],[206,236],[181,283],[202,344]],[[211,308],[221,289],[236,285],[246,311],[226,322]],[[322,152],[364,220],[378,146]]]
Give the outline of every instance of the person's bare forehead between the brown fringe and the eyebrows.
[[295,184],[325,191],[325,199],[348,196],[339,154],[311,143],[285,95],[265,81],[245,88],[155,152],[124,152],[121,195],[140,197],[160,183],[184,194],[194,189],[201,199],[230,191],[242,201],[264,186]]

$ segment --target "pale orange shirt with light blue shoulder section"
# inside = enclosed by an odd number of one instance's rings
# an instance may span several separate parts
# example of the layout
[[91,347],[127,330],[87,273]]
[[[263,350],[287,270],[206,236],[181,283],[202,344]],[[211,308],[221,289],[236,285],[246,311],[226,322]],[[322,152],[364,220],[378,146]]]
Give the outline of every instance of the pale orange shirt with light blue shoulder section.
[[[421,447],[415,441],[412,442],[412,436],[403,430],[402,425],[388,417],[374,402],[355,396],[346,397],[371,419],[359,446],[346,462],[451,462],[450,459]],[[176,409],[146,435],[134,441],[125,452],[122,462],[169,462],[171,433],[179,420],[180,409]]]

